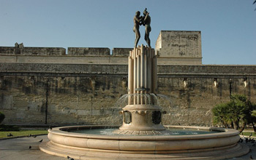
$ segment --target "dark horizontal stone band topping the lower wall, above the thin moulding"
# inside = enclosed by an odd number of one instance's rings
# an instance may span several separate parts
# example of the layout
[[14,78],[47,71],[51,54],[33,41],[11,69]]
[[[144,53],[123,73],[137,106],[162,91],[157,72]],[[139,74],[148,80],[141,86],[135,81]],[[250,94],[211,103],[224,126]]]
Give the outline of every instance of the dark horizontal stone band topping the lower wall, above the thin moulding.
[[[125,73],[128,65],[123,64],[53,64],[53,63],[0,63],[1,72],[38,71],[54,73]],[[182,74],[182,76],[200,74],[201,76],[228,76],[239,74],[249,76],[256,73],[256,65],[158,65],[158,74]]]

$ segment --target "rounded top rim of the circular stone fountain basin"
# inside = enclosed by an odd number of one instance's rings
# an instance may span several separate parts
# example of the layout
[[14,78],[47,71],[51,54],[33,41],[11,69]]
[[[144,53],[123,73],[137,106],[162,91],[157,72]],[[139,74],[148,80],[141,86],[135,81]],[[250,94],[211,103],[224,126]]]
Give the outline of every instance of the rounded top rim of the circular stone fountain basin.
[[239,134],[236,129],[227,129],[219,127],[194,127],[194,126],[173,126],[165,125],[168,128],[180,128],[180,129],[206,129],[212,131],[220,131],[217,133],[201,134],[201,135],[94,135],[85,133],[67,132],[67,129],[78,128],[103,128],[103,127],[118,127],[118,126],[103,126],[103,125],[83,125],[83,126],[68,126],[68,127],[55,127],[48,129],[49,134],[62,135],[66,137],[78,137],[78,138],[90,138],[100,140],[198,140],[198,139],[212,139],[221,137],[236,136]]

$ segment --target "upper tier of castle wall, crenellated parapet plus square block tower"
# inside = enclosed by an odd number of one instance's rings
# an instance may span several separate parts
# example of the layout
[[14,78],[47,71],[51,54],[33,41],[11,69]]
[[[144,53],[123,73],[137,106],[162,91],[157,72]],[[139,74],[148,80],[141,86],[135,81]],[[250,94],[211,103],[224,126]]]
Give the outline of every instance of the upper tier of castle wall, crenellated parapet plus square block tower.
[[[127,64],[133,48],[0,47],[0,63]],[[158,64],[201,65],[200,31],[161,31],[156,43]]]

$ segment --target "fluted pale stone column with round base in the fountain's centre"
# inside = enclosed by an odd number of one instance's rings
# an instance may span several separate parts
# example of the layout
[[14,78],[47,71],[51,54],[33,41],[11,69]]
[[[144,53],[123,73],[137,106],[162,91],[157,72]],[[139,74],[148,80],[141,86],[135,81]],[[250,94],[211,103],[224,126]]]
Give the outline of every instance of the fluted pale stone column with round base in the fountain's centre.
[[122,108],[123,125],[115,131],[124,135],[162,135],[169,131],[161,124],[157,93],[157,55],[151,47],[129,52],[128,105]]

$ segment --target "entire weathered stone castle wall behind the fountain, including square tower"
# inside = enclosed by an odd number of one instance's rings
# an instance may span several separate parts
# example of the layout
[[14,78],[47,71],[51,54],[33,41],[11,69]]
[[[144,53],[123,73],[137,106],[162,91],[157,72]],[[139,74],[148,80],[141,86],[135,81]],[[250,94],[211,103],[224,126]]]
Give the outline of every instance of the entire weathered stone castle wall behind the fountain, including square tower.
[[[130,50],[0,47],[4,123],[120,125]],[[202,65],[200,31],[161,31],[156,50],[163,124],[210,126],[230,94],[256,103],[256,65]]]

